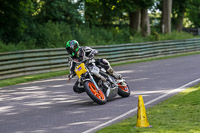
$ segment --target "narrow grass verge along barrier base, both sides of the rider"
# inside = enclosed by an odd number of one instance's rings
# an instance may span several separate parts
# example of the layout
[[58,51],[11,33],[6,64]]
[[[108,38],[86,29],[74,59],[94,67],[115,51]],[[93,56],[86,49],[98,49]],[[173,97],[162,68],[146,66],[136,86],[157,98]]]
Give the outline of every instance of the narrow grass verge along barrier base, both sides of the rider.
[[[163,59],[176,58],[176,57],[181,57],[181,56],[189,56],[189,55],[195,55],[195,54],[200,54],[200,52],[191,52],[191,53],[177,54],[177,55],[164,56],[164,57],[140,59],[140,60],[129,61],[129,62],[125,62],[125,63],[112,64],[112,66],[127,65],[127,64],[132,64],[132,63],[140,63],[140,62],[147,62],[147,61],[154,61],[154,60],[163,60]],[[0,80],[0,87],[16,85],[19,83],[25,83],[25,82],[35,81],[35,80],[39,80],[39,79],[52,78],[55,76],[63,76],[68,73],[69,73],[69,71],[66,70],[66,71],[49,72],[49,73],[43,73],[43,74],[22,76],[22,77],[7,79],[7,80]]]

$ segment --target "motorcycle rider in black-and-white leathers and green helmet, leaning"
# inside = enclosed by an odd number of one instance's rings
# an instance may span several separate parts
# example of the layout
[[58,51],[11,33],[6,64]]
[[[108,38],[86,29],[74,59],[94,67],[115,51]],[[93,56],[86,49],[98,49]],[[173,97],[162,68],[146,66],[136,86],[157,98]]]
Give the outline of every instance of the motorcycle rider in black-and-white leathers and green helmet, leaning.
[[[70,74],[68,75],[68,82],[76,75],[74,72],[76,67],[76,62],[84,62],[85,60],[89,60],[91,57],[98,54],[96,49],[92,49],[90,47],[80,47],[78,41],[69,40],[66,43],[66,50],[70,55],[68,62],[70,64]],[[107,73],[112,75],[116,79],[121,79],[121,75],[116,73],[111,67],[110,63],[106,59],[96,59],[96,65],[100,65],[103,67]],[[79,82],[75,83],[73,90],[77,93],[84,92],[84,88],[79,87]]]

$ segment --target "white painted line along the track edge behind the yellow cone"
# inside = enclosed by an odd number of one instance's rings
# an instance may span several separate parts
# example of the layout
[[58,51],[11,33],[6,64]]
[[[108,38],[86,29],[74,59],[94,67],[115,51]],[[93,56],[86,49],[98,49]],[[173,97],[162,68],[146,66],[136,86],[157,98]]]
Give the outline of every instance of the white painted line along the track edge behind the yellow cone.
[[[176,88],[176,89],[174,89],[174,90],[172,90],[172,91],[170,91],[170,92],[168,92],[168,93],[166,93],[166,94],[164,94],[164,95],[161,95],[161,96],[159,96],[159,97],[157,97],[157,98],[155,98],[155,99],[153,99],[153,100],[147,102],[145,105],[149,105],[149,104],[151,104],[151,103],[153,103],[153,102],[155,102],[155,101],[158,101],[158,100],[160,100],[161,98],[166,97],[166,96],[168,96],[168,95],[171,94],[171,93],[178,93],[178,92],[181,92],[181,91],[187,89],[188,86],[190,86],[190,85],[192,85],[192,84],[194,84],[194,83],[196,83],[196,82],[199,82],[199,81],[200,81],[200,78],[198,78],[198,79],[196,79],[196,80],[193,80],[193,81],[191,81],[191,82],[189,82],[189,83],[187,83],[187,84],[185,84],[185,85],[182,85],[182,86],[179,87],[179,88]],[[120,119],[120,118],[123,118],[123,117],[125,117],[126,115],[129,115],[129,114],[131,114],[131,113],[133,113],[133,112],[135,112],[135,111],[137,111],[137,107],[134,108],[134,109],[131,109],[131,110],[129,110],[128,112],[126,112],[126,113],[124,113],[124,114],[122,114],[122,115],[120,115],[120,116],[118,116],[118,117],[115,117],[114,119],[111,119],[111,120],[109,120],[109,121],[107,121],[107,122],[105,122],[105,123],[103,123],[103,124],[101,124],[101,125],[98,125],[98,126],[96,126],[96,127],[94,127],[94,128],[91,128],[91,129],[89,129],[89,130],[86,130],[86,131],[84,131],[83,133],[91,133],[92,131],[95,131],[95,130],[101,128],[101,127],[104,127],[104,126],[106,126],[106,125],[108,125],[108,124],[110,124],[110,123],[112,123],[112,122],[114,122],[114,121],[116,121],[116,120],[118,120],[118,119]]]

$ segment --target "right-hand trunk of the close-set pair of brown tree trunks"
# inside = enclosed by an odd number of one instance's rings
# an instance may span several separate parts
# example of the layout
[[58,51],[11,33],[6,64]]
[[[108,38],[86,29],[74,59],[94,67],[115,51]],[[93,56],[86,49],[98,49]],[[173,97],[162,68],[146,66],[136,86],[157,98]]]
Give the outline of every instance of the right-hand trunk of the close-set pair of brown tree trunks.
[[150,35],[150,22],[147,9],[141,10],[141,31],[142,36]]

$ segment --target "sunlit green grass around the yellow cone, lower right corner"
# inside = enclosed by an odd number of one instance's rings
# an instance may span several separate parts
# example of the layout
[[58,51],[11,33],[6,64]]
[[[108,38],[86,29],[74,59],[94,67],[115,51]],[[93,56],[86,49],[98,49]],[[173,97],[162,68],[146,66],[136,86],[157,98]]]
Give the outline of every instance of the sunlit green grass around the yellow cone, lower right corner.
[[137,116],[97,133],[200,133],[200,84],[146,109],[152,128],[135,128]]

